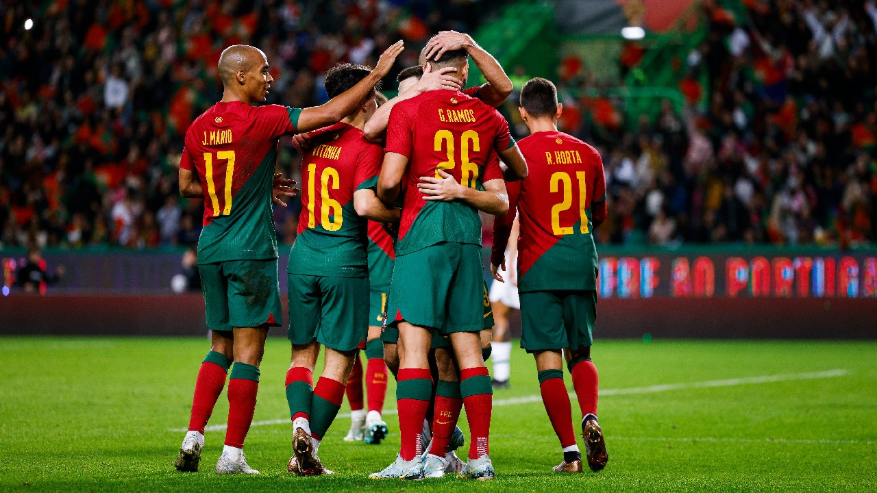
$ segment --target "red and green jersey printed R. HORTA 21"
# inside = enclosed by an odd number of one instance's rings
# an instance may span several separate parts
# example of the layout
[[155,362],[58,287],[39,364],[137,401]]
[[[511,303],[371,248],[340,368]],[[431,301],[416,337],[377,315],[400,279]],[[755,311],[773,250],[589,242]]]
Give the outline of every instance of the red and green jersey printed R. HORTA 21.
[[509,214],[494,224],[491,261],[503,261],[517,209],[518,289],[596,289],[591,204],[606,200],[600,154],[556,131],[533,133],[518,146],[529,174],[521,182],[507,183]]

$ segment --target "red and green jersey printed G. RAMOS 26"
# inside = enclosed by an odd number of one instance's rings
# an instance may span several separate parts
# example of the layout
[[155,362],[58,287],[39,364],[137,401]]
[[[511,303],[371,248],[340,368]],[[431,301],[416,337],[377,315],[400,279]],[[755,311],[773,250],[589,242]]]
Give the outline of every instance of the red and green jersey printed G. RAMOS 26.
[[410,160],[396,254],[446,241],[481,245],[478,211],[459,201],[425,201],[417,182],[444,169],[457,182],[477,188],[502,177],[499,167],[491,166],[491,155],[514,144],[509,124],[495,108],[460,91],[428,91],[393,106],[385,150]]

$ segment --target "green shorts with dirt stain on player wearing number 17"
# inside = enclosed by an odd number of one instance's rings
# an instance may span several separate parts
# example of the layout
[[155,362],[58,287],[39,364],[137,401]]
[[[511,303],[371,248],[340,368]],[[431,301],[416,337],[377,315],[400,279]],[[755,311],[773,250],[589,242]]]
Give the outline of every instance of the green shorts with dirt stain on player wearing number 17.
[[198,266],[210,330],[282,325],[277,259]]

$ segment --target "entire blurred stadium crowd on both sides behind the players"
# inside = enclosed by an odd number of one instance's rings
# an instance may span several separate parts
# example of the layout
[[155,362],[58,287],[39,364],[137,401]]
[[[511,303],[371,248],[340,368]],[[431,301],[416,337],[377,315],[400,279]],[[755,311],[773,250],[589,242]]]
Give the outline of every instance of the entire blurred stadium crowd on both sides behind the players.
[[[0,246],[194,244],[202,204],[179,198],[176,167],[189,123],[219,99],[222,48],[260,46],[275,76],[269,102],[303,107],[325,100],[321,75],[335,62],[374,64],[406,39],[395,74],[432,32],[472,32],[482,4],[58,0],[25,32],[37,16],[13,7],[0,25]],[[877,237],[877,4],[743,4],[744,18],[702,4],[709,37],[685,61],[685,111],[665,102],[631,130],[612,102],[563,101],[562,128],[603,156],[600,242],[845,247]],[[707,88],[695,82],[703,73]],[[581,70],[559,82],[591,81]],[[297,159],[282,145],[287,175]],[[276,211],[284,243],[298,211]]]

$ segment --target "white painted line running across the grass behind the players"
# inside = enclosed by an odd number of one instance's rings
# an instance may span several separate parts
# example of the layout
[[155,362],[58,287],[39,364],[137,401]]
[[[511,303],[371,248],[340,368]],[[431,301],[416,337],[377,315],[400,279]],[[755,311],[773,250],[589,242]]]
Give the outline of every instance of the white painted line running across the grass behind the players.
[[[685,383],[665,383],[661,385],[648,385],[646,387],[631,387],[629,389],[601,389],[600,397],[606,396],[626,396],[630,394],[653,394],[657,392],[667,392],[670,390],[685,390],[685,389],[712,389],[715,387],[734,387],[737,385],[752,385],[755,383],[773,383],[773,382],[788,382],[790,380],[818,380],[821,378],[834,378],[836,376],[844,376],[850,375],[849,370],[845,370],[843,368],[831,369],[825,371],[814,371],[808,373],[790,373],[783,375],[762,375],[762,376],[748,376],[744,378],[729,378],[726,380],[707,380],[704,382],[685,382]],[[575,394],[570,392],[569,397],[575,397]],[[522,396],[522,397],[510,397],[508,399],[496,399],[494,401],[494,407],[496,406],[506,406],[506,405],[514,405],[514,404],[529,404],[529,403],[538,403],[542,401],[542,397],[535,396]],[[384,410],[383,414],[394,415],[396,414],[395,409]],[[338,418],[350,418],[350,413],[342,413],[338,415]],[[251,426],[266,426],[266,425],[282,425],[284,423],[289,423],[289,418],[286,419],[267,419],[265,421],[253,421],[253,425]],[[205,428],[205,431],[215,432],[218,430],[225,430],[225,425],[210,425]],[[186,432],[186,428],[171,428],[169,431],[171,432]]]

